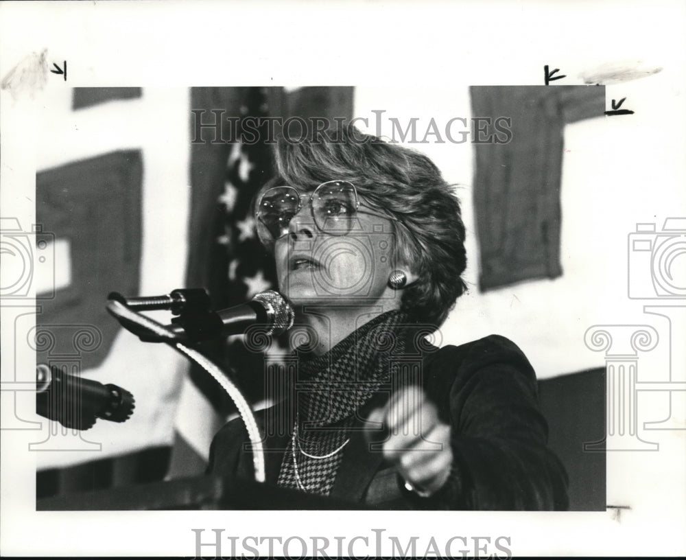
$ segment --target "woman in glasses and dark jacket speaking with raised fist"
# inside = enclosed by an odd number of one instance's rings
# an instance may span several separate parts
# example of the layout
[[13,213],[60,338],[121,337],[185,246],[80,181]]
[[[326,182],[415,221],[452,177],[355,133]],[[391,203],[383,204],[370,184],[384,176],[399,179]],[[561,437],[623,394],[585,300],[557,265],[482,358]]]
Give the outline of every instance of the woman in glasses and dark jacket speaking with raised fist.
[[[281,140],[276,161],[255,221],[307,336],[289,397],[258,415],[267,482],[387,509],[566,509],[525,355],[495,335],[427,341],[466,266],[434,163],[353,127]],[[247,441],[225,425],[209,471],[250,476]]]

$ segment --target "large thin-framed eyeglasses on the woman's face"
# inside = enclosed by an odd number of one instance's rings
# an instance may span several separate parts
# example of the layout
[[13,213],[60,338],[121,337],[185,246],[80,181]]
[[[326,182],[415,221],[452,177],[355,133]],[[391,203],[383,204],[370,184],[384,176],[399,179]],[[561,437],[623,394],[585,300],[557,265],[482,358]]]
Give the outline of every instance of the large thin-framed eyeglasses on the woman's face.
[[[383,215],[389,220],[398,221],[392,215],[376,212],[365,212],[360,204],[355,185],[348,181],[333,180],[322,183],[309,196],[307,204],[311,207],[312,218],[316,226],[329,235],[347,235],[353,231],[357,213]],[[257,235],[268,247],[279,238],[287,235],[289,224],[300,210],[305,207],[303,197],[294,187],[272,187],[265,191],[255,211]]]

